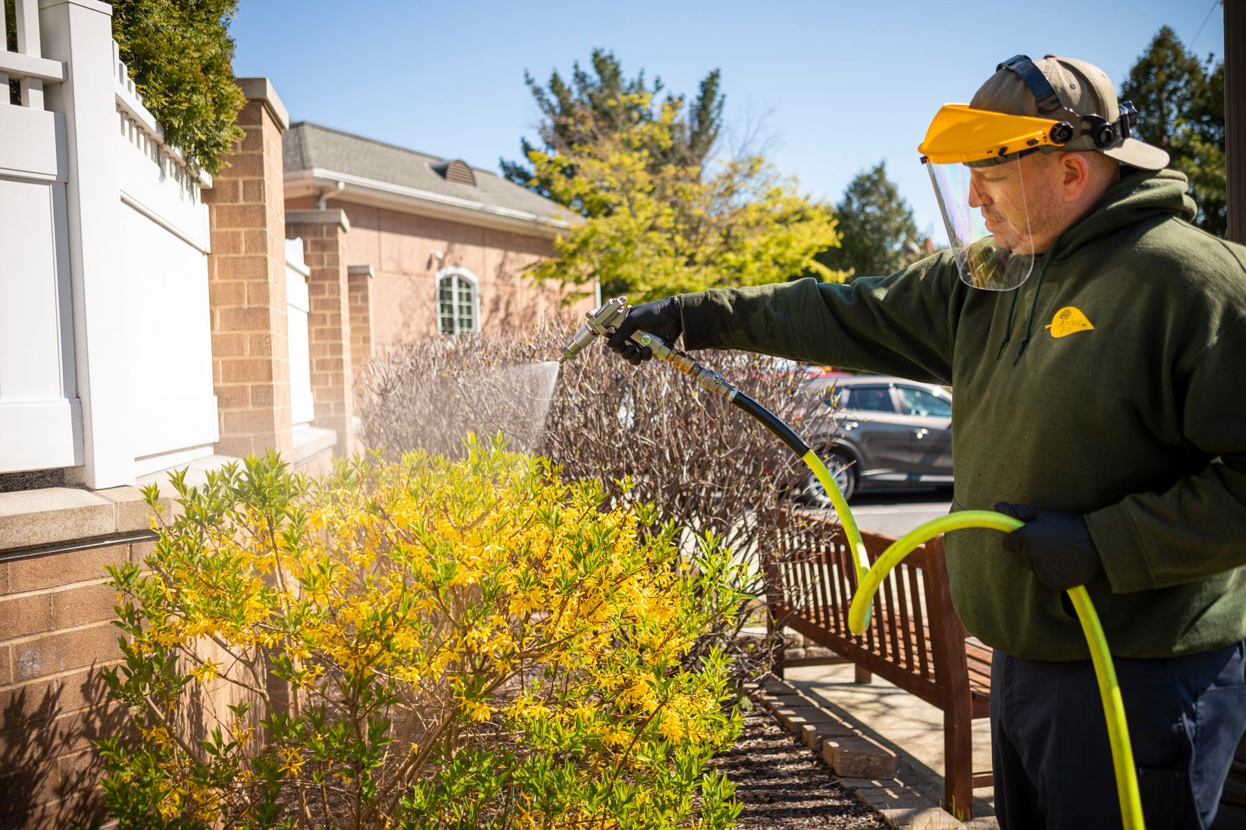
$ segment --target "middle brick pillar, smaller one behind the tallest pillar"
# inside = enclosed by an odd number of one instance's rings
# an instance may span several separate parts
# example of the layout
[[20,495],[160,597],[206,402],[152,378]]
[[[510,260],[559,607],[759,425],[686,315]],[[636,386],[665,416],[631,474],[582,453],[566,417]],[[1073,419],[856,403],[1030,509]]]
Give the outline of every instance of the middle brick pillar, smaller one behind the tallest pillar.
[[346,231],[343,210],[292,210],[285,214],[288,238],[303,238],[308,271],[308,352],[315,427],[338,433],[335,455],[355,450],[355,403],[350,373],[350,301],[346,274]]

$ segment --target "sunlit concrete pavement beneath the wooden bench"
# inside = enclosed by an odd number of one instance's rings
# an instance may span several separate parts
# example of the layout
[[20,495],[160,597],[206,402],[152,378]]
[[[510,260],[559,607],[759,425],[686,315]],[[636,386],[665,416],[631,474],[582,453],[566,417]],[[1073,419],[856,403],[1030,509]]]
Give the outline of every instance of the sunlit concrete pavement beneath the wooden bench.
[[[854,666],[799,666],[784,679],[819,706],[891,749],[897,757],[896,779],[932,804],[943,803],[943,713],[916,696],[875,677],[870,684],[854,682]],[[991,769],[991,727],[973,722],[973,769]],[[991,788],[974,790],[976,830],[997,830]]]

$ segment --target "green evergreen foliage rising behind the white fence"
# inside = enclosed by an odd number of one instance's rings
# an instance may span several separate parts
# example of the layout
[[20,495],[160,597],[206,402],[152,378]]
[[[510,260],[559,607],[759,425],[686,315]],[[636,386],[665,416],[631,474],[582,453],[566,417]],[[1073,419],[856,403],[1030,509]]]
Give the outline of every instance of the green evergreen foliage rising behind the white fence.
[[113,0],[112,36],[143,105],[186,159],[216,173],[242,138],[233,77],[238,0]]

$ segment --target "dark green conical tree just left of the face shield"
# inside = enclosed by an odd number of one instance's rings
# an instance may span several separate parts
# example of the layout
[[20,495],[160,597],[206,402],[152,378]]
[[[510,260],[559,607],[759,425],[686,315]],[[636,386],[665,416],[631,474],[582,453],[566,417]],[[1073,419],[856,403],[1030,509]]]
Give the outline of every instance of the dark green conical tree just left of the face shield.
[[886,162],[862,170],[849,182],[835,205],[840,244],[817,255],[817,261],[852,276],[882,276],[898,271],[921,251],[923,241],[913,212],[887,178]]

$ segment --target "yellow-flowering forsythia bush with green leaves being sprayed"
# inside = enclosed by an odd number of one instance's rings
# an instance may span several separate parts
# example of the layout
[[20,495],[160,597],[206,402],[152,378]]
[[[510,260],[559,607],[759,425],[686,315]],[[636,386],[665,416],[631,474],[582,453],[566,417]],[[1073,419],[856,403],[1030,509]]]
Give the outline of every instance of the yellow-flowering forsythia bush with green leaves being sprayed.
[[705,772],[740,727],[728,661],[680,668],[741,601],[713,539],[682,554],[652,505],[501,442],[174,484],[145,566],[112,570],[121,828],[731,825]]

